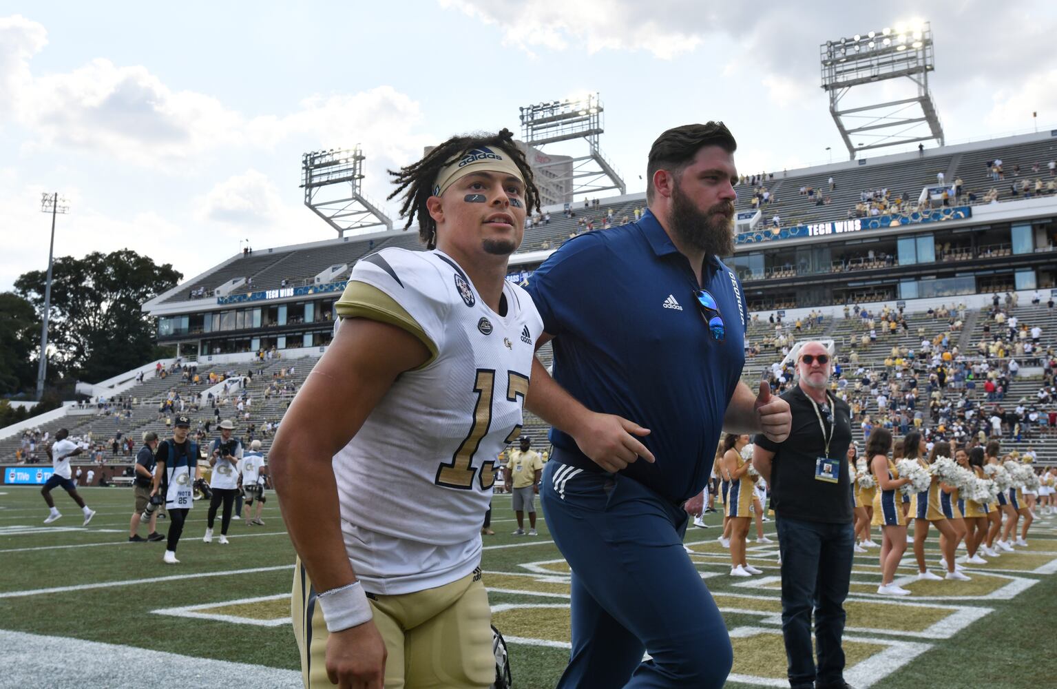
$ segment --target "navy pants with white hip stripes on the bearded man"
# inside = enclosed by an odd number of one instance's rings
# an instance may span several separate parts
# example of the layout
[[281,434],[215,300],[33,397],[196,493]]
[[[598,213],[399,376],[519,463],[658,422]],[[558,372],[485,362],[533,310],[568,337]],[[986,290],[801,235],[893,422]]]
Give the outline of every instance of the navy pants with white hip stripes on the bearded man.
[[686,512],[633,478],[580,471],[562,455],[555,448],[540,489],[572,568],[573,648],[559,689],[722,687],[730,637],[683,549]]

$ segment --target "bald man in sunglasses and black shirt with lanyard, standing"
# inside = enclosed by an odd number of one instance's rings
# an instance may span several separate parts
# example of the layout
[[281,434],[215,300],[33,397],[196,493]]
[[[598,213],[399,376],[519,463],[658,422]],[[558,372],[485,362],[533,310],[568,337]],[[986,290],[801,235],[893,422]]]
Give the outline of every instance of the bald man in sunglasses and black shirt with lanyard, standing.
[[[782,395],[793,413],[789,438],[758,435],[753,466],[771,486],[782,556],[782,635],[793,689],[846,689],[843,602],[852,576],[851,407],[829,392],[832,353],[800,347],[797,385]],[[812,654],[815,615],[818,664]]]

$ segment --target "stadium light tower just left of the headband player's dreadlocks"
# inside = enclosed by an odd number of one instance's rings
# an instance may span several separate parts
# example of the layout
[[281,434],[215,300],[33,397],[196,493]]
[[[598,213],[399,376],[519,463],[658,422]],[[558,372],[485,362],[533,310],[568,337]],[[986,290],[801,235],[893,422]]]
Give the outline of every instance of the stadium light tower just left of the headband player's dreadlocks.
[[393,229],[389,219],[363,195],[364,153],[355,148],[313,150],[301,156],[301,188],[304,205],[337,230],[347,231],[385,225]]

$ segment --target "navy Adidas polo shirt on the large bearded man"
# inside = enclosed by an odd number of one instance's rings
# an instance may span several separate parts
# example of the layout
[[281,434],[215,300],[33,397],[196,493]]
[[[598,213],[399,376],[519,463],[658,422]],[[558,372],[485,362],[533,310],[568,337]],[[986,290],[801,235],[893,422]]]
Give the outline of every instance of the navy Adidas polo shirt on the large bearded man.
[[[570,239],[526,288],[555,338],[554,379],[589,410],[652,431],[639,439],[656,463],[639,459],[622,473],[673,503],[704,489],[745,363],[741,283],[715,256],[702,283],[723,316],[723,342],[698,306],[690,261],[646,211],[637,222]],[[568,434],[552,429],[551,441],[564,461],[601,471]]]

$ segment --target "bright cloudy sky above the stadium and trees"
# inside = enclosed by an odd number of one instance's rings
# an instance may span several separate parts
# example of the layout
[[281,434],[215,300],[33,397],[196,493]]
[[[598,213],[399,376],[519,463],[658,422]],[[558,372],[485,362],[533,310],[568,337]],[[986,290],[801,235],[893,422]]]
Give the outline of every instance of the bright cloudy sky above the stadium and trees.
[[[360,144],[385,170],[518,106],[597,91],[601,148],[644,191],[664,129],[723,120],[744,171],[834,160],[819,44],[932,22],[948,143],[1057,128],[1057,4],[976,0],[409,0],[386,5],[0,5],[0,291],[48,264],[40,195],[70,201],[56,254],[130,248],[191,277],[239,251],[329,239],[300,157]],[[568,152],[560,145],[548,151]],[[384,205],[396,219],[394,203]],[[402,224],[402,223],[401,223]]]

